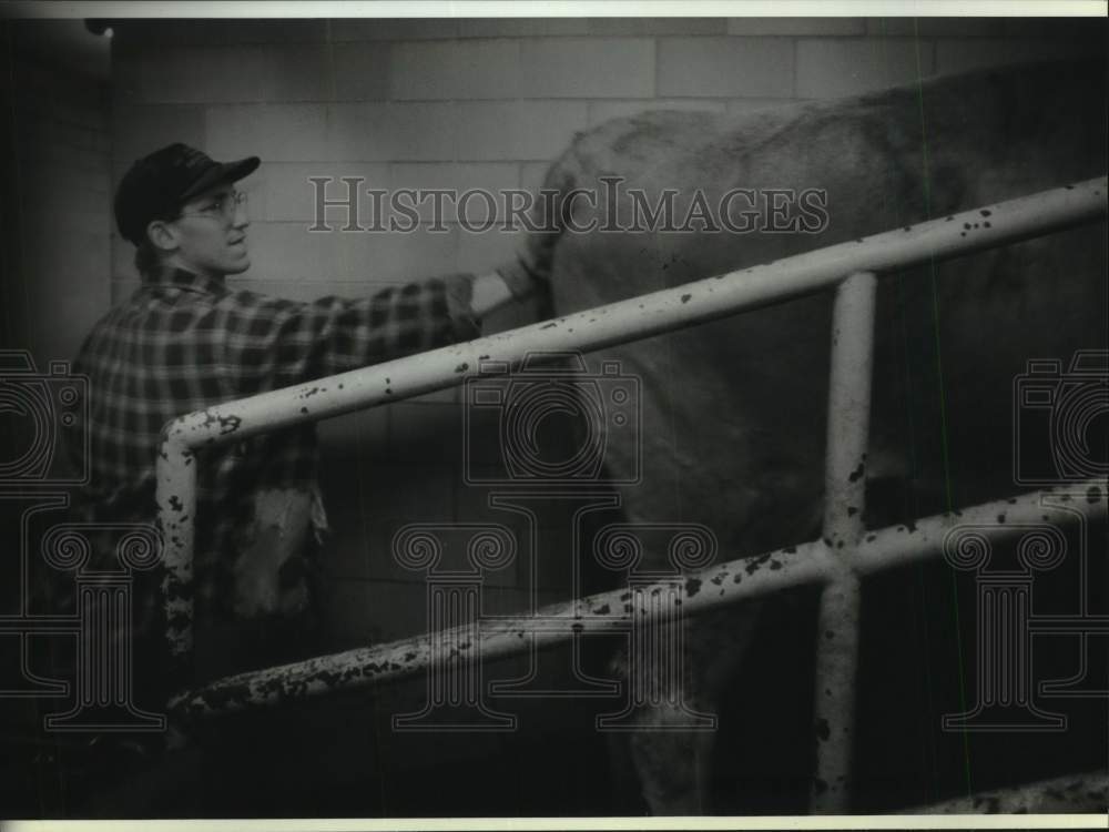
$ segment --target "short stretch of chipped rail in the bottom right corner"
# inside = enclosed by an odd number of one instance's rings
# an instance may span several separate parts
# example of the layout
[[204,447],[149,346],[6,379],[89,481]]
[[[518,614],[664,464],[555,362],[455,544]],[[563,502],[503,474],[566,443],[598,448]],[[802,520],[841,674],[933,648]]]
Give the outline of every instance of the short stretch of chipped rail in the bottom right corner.
[[910,809],[906,814],[1071,814],[1109,810],[1109,772],[1093,771],[978,792]]

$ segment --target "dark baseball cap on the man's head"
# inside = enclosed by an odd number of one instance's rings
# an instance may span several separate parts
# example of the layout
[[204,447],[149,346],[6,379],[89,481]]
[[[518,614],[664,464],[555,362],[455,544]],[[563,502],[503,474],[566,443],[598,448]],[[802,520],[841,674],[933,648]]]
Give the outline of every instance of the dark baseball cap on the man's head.
[[139,245],[154,220],[170,220],[193,196],[225,182],[236,182],[258,166],[257,156],[216,162],[206,153],[176,142],[136,161],[115,191],[115,224]]

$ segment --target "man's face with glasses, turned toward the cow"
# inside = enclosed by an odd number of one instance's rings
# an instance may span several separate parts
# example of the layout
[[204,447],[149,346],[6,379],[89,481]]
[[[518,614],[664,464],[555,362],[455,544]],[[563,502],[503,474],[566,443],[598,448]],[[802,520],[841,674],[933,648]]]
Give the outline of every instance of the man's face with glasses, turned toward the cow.
[[177,243],[174,260],[208,276],[241,274],[250,268],[245,204],[232,184],[215,185],[182,205],[172,221]]

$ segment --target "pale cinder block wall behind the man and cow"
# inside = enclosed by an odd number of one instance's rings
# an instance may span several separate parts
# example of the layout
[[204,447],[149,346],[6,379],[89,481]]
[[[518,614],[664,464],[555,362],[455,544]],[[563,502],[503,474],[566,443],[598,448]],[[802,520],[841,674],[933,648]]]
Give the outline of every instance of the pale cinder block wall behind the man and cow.
[[[576,131],[611,116],[739,112],[1103,50],[1102,22],[124,21],[113,44],[113,169],[118,179],[172,141],[221,159],[262,156],[244,183],[254,265],[234,283],[293,298],[357,295],[491,267],[512,241],[454,222],[447,233],[309,233],[309,176],[362,176],[383,189],[531,187]],[[342,212],[332,216],[342,225]],[[136,275],[131,247],[113,237],[112,250],[118,300]],[[528,314],[499,315],[488,328]],[[486,508],[487,491],[462,485],[457,390],[335,419],[324,434],[336,646],[423,630],[424,577],[391,562],[393,532],[410,521],[505,520]],[[547,557],[541,600],[569,589],[568,555]],[[490,575],[494,606],[520,608],[526,578],[522,567]]]

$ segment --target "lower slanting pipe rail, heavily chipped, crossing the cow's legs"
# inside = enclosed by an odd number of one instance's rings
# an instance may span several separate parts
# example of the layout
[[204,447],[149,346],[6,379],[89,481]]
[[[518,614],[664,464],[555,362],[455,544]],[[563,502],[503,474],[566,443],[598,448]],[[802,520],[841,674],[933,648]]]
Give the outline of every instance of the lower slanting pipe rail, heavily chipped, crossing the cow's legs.
[[[1085,514],[1091,519],[1103,518],[1107,507],[1103,480],[1083,484],[1081,493]],[[1075,521],[1071,511],[1041,505],[1045,494],[1026,494],[922,519],[913,527],[896,526],[867,534],[851,555],[852,564],[861,574],[867,574],[935,557],[949,529],[965,522],[996,522],[999,514],[1006,516],[1007,524],[997,525],[996,532],[991,532],[996,538],[1019,534],[1019,529],[1008,524]],[[1052,497],[1058,499],[1057,494]],[[824,582],[837,577],[841,568],[840,558],[823,540],[732,560],[686,576],[682,610],[695,615],[788,587]],[[649,595],[650,588],[647,588],[643,596]],[[641,612],[625,606],[631,598],[627,589],[618,589],[545,607],[538,610],[538,618],[482,619],[480,643],[470,655],[494,659],[527,650],[532,640],[542,647],[566,641],[577,632],[627,632],[632,615],[650,617],[649,610]],[[175,718],[187,720],[339,690],[374,688],[424,670],[430,660],[430,643],[428,635],[420,635],[241,673],[182,693],[171,701],[170,708]]]

